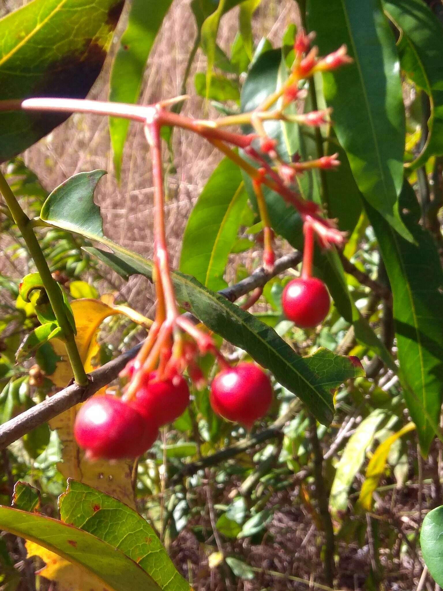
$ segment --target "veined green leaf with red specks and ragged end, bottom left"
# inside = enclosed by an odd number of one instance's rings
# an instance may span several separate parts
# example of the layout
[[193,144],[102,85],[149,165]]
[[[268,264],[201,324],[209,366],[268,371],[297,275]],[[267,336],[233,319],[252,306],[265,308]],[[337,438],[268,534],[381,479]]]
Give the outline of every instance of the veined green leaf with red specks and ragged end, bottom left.
[[[118,548],[150,574],[163,591],[190,591],[189,583],[175,569],[152,527],[118,499],[70,479],[59,505],[62,521]],[[129,588],[128,582],[126,591]]]

